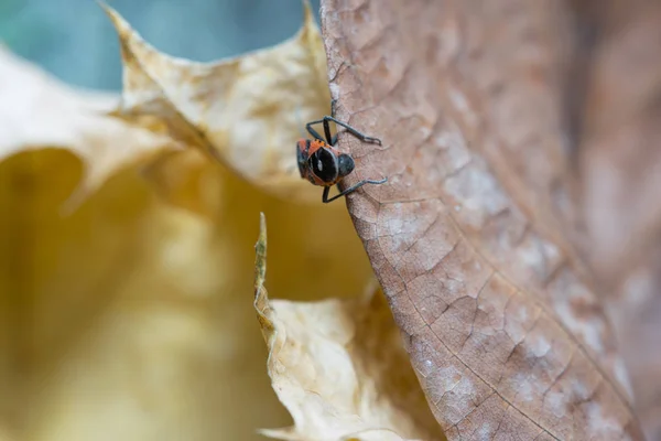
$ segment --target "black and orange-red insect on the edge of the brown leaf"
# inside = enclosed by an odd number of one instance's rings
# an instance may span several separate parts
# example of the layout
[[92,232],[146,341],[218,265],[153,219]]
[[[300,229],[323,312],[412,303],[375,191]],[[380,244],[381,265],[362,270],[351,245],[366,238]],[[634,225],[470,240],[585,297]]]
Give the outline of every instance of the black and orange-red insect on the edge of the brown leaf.
[[[350,154],[342,153],[335,149],[335,144],[337,143],[337,135],[335,137],[330,136],[329,122],[333,121],[337,126],[344,127],[349,133],[362,142],[373,142],[381,146],[380,139],[368,137],[346,122],[335,119],[335,101],[333,103],[332,115],[333,116],[325,116],[322,119],[307,122],[305,128],[314,139],[301,139],[299,142],[296,142],[296,158],[301,178],[306,179],[314,185],[321,185],[324,187],[322,201],[325,204],[333,202],[338,197],[346,196],[347,194],[360,189],[365,184],[382,184],[388,181],[388,178],[384,178],[380,181],[364,180],[355,185],[351,185],[344,192],[338,186],[337,190],[339,190],[339,194],[328,198],[328,192],[330,192],[330,187],[337,184],[344,176],[351,173],[356,166],[354,163],[354,158],[351,158]],[[324,126],[324,135],[326,136],[325,141],[322,139],[319,133],[312,128],[312,126],[317,123],[322,123]]]

